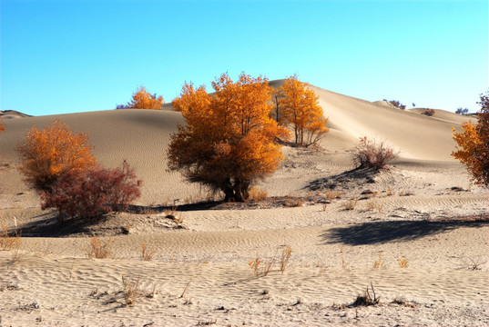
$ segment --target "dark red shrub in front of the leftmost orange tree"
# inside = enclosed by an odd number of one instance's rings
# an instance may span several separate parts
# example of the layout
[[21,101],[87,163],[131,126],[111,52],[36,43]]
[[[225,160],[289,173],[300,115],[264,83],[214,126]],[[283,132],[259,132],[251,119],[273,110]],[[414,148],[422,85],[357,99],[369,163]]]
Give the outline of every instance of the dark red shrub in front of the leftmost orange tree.
[[41,208],[56,208],[58,220],[93,219],[123,210],[140,196],[141,181],[124,161],[115,169],[96,168],[66,173],[50,192],[41,193]]

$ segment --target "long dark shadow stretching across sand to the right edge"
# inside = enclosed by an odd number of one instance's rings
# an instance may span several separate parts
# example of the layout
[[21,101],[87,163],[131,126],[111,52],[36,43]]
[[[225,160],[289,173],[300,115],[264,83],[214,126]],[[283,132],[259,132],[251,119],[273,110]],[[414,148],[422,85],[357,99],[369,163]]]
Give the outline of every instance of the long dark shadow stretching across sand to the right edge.
[[485,225],[489,225],[487,217],[474,221],[373,222],[331,228],[322,233],[320,237],[324,244],[369,245],[414,241],[425,236],[449,232],[459,227],[477,228]]

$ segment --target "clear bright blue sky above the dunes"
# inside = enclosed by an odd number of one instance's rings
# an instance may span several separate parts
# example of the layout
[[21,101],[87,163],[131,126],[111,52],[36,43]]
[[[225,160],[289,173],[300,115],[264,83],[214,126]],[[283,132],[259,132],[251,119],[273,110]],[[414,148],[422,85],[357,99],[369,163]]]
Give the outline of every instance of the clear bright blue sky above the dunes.
[[25,114],[113,109],[138,85],[169,102],[225,72],[450,111],[489,86],[484,0],[0,5],[0,109]]

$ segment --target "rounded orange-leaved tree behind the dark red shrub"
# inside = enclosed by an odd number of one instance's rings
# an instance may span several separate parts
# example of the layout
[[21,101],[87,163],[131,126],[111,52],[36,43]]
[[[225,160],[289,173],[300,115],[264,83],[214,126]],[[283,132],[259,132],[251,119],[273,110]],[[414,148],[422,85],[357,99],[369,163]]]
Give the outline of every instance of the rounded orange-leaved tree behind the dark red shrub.
[[94,168],[97,163],[92,149],[87,134],[72,133],[60,120],[43,130],[33,126],[17,146],[22,159],[19,170],[30,186],[49,192],[64,174]]

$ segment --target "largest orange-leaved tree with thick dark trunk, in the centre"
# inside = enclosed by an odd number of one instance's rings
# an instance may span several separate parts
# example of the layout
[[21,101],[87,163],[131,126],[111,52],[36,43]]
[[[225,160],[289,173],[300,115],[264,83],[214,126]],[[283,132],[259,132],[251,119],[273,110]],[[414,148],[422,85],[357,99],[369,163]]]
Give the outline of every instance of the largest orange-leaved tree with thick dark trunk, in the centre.
[[283,156],[280,137],[288,132],[270,118],[272,88],[263,77],[240,74],[233,82],[221,74],[204,86],[185,84],[173,101],[185,125],[178,126],[168,147],[168,168],[179,170],[188,181],[202,183],[225,201],[243,201],[249,189],[275,171]]

